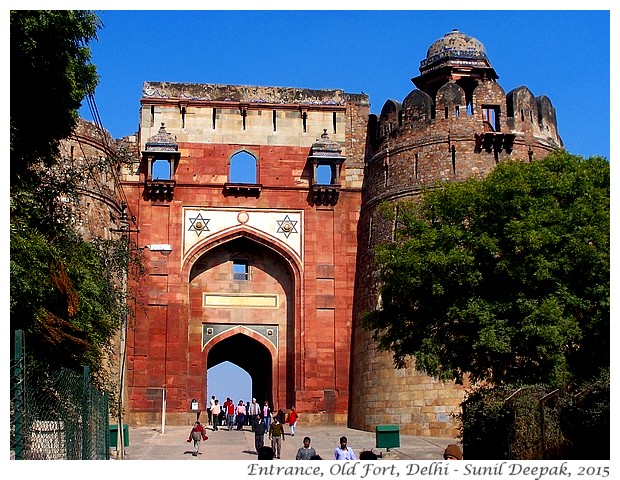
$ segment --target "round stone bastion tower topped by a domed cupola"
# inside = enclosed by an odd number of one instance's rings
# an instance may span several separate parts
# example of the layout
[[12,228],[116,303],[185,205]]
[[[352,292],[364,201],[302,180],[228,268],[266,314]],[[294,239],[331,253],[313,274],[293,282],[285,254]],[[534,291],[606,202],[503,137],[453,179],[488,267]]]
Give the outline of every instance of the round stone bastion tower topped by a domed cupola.
[[389,241],[393,224],[382,202],[415,198],[424,187],[484,177],[509,159],[533,161],[562,148],[555,110],[546,96],[524,86],[508,94],[484,45],[453,30],[433,43],[420,62],[416,88],[401,102],[385,102],[369,121],[351,346],[349,426],[374,430],[398,424],[404,434],[453,437],[467,383],[428,377],[415,360],[394,367],[361,326],[377,305],[378,271],[372,250]]

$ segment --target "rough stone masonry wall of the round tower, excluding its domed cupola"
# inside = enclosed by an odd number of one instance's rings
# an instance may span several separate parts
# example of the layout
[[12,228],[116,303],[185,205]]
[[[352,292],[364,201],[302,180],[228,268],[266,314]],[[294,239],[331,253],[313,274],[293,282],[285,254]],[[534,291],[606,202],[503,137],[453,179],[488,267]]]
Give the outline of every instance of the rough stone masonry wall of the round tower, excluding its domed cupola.
[[[349,426],[373,430],[377,425],[394,423],[406,434],[458,434],[452,415],[460,412],[468,385],[428,377],[416,371],[414,359],[405,368],[395,369],[391,353],[379,351],[372,332],[362,328],[363,313],[374,309],[378,302],[379,279],[372,249],[392,237],[393,223],[381,218],[378,207],[382,202],[415,199],[423,188],[440,182],[482,178],[497,162],[527,161],[530,149],[534,158],[541,158],[559,148],[555,112],[547,99],[534,102],[531,96],[522,97],[524,100],[516,99],[509,110],[501,87],[483,82],[475,89],[471,114],[466,113],[466,105],[460,105],[460,114],[456,115],[454,105],[450,105],[447,115],[439,109],[431,118],[430,110],[424,112],[425,107],[421,106],[416,112],[418,116],[404,115],[401,125],[398,104],[386,104],[377,125],[378,139],[369,151],[358,224]],[[513,96],[509,98],[512,100]],[[515,135],[511,151],[504,149],[497,155],[484,150],[475,152],[475,135],[484,132],[480,115],[484,104],[499,105],[500,133]],[[508,111],[520,113],[522,105],[529,110],[540,105],[542,112],[525,115],[522,120],[507,117]],[[369,135],[376,136],[373,132]]]

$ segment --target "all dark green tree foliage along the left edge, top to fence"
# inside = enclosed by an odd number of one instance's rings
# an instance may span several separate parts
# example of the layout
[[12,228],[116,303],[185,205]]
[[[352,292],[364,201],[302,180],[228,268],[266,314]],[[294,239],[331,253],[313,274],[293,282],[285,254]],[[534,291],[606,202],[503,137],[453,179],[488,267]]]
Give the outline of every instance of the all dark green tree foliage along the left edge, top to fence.
[[88,11],[11,12],[10,313],[43,364],[103,374],[139,256],[123,239],[87,242],[74,224],[81,186],[119,160],[80,164],[58,149],[97,83],[88,42],[99,27]]

